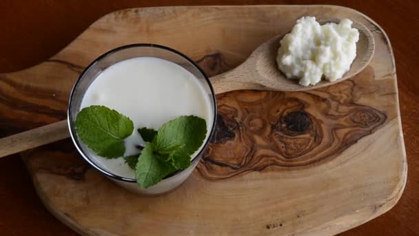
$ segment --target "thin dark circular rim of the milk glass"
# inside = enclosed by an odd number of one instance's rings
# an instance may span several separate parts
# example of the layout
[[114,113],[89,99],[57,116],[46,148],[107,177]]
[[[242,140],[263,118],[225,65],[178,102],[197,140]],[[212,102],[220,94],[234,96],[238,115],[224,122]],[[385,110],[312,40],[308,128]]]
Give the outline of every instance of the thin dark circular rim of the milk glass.
[[[76,92],[77,86],[82,81],[85,73],[88,72],[88,70],[90,68],[92,68],[92,66],[94,66],[94,64],[96,64],[101,59],[114,54],[115,52],[119,52],[121,50],[129,49],[129,48],[142,48],[142,47],[159,48],[159,49],[167,50],[169,52],[173,52],[174,54],[176,54],[180,57],[183,57],[183,59],[186,59],[187,61],[189,61],[192,64],[192,66],[194,66],[194,68],[196,68],[201,73],[201,75],[204,77],[205,81],[207,82],[208,87],[210,88],[211,95],[212,95],[211,98],[212,98],[212,101],[214,102],[214,114],[213,114],[214,117],[212,119],[212,127],[211,127],[211,130],[210,130],[210,134],[207,137],[207,140],[205,140],[205,143],[203,144],[203,148],[201,148],[201,150],[199,150],[199,152],[196,154],[196,156],[191,160],[191,166],[193,166],[194,163],[198,159],[200,159],[199,157],[201,157],[201,155],[203,155],[203,152],[206,150],[208,144],[210,144],[210,140],[212,138],[212,135],[214,135],[214,130],[215,130],[215,127],[216,127],[216,118],[217,118],[216,95],[215,95],[215,92],[214,92],[214,88],[212,88],[212,84],[211,84],[210,79],[207,77],[205,72],[198,66],[198,64],[195,63],[195,61],[193,61],[192,59],[190,59],[189,57],[184,55],[182,52],[179,52],[178,50],[175,50],[173,48],[169,48],[167,46],[154,44],[154,43],[133,43],[133,44],[127,44],[125,46],[120,46],[118,48],[114,48],[112,50],[109,50],[108,52],[105,52],[102,55],[100,55],[99,57],[97,57],[96,59],[94,59],[88,66],[86,66],[86,68],[83,70],[83,72],[81,72],[81,74],[79,75],[79,78],[74,83],[74,86],[73,86],[73,88],[70,92],[70,99],[68,101],[68,110],[67,110],[68,128],[70,130],[70,137],[71,137],[71,139],[74,143],[74,146],[76,146],[76,149],[79,152],[79,154],[83,157],[83,159],[85,161],[88,162],[88,164],[90,164],[90,166],[93,166],[96,170],[99,170],[99,172],[101,172],[103,175],[105,175],[107,177],[111,177],[112,179],[116,179],[116,180],[119,180],[119,181],[131,182],[131,183],[136,182],[136,179],[122,177],[120,175],[115,175],[114,173],[111,173],[110,171],[105,170],[104,168],[101,168],[101,166],[94,163],[94,161],[92,161],[88,157],[88,155],[83,151],[83,149],[81,148],[81,144],[79,142],[79,138],[76,137],[76,130],[75,130],[75,127],[73,125],[74,120],[72,119],[72,112],[70,111],[70,108],[71,108],[72,103],[73,103],[73,97],[74,97],[74,93]],[[185,170],[187,170],[187,168]],[[182,173],[183,171],[184,170],[178,170],[175,173],[172,173],[171,175],[167,175],[166,177],[164,177],[162,179],[162,181],[164,181],[165,179],[170,179],[171,177],[174,177],[174,176]]]

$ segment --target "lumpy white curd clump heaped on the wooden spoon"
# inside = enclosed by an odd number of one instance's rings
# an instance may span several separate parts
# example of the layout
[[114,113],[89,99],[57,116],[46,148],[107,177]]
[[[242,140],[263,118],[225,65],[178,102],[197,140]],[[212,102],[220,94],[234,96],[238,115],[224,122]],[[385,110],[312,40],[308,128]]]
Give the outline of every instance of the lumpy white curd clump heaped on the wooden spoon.
[[302,86],[315,85],[323,75],[329,81],[342,78],[356,57],[359,32],[351,25],[349,19],[323,26],[316,17],[298,19],[280,41],[278,68]]

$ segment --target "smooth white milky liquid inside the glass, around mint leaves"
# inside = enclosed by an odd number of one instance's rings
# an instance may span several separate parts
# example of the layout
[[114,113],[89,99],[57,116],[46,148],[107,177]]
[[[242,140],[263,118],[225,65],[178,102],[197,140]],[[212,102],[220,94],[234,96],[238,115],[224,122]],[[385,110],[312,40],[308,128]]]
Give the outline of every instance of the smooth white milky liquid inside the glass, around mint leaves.
[[[194,75],[176,63],[155,57],[127,59],[103,70],[85,92],[80,109],[92,105],[107,106],[134,122],[133,134],[125,139],[125,156],[139,153],[135,146],[143,144],[137,128],[158,130],[165,122],[181,115],[205,119],[206,140],[214,113],[210,95]],[[89,154],[101,168],[115,175],[134,178],[134,171],[122,157],[105,159],[91,150]]]

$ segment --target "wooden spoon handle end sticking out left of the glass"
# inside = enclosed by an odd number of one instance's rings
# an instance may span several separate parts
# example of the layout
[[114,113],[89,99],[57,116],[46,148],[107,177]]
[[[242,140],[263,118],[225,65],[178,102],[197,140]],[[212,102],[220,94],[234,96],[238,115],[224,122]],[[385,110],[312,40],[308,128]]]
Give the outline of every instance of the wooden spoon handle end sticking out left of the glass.
[[0,139],[0,158],[70,137],[67,120]]

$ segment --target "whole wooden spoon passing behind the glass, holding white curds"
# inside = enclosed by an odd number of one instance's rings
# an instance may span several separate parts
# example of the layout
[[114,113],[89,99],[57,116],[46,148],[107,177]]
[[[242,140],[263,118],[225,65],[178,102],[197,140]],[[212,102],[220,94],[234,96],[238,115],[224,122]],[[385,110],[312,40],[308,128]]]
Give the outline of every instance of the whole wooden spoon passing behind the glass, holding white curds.
[[[252,55],[240,66],[221,75],[211,77],[212,86],[216,94],[243,89],[303,91],[329,86],[349,79],[367,66],[374,55],[375,47],[374,38],[367,27],[355,22],[352,26],[360,32],[359,41],[356,45],[357,56],[351,65],[351,69],[345,73],[342,79],[334,82],[323,80],[316,86],[300,86],[298,80],[287,79],[276,65],[279,41],[283,37],[283,35],[278,35],[256,48]],[[68,131],[67,120],[21,132],[0,139],[0,157],[6,157],[68,137],[70,137],[70,132]]]

